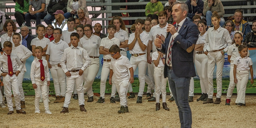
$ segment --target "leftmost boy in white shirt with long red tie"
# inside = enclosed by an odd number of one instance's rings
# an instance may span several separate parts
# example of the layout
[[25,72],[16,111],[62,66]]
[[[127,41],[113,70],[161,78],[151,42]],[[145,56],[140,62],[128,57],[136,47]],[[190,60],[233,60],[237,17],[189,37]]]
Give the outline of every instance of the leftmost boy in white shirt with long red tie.
[[13,114],[12,93],[15,98],[16,113],[26,114],[20,108],[20,91],[17,77],[23,68],[23,64],[16,54],[12,54],[12,42],[5,41],[3,47],[4,53],[0,56],[0,68],[2,68],[0,74],[3,76],[4,92],[9,108],[7,115]]

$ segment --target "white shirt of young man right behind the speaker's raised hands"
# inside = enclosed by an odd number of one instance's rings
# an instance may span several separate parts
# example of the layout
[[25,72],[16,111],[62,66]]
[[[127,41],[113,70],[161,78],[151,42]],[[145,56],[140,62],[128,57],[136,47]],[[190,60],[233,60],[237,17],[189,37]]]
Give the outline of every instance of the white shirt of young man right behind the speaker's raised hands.
[[152,51],[153,51],[153,52],[156,52],[156,51],[157,51],[157,50],[156,50],[156,46],[155,46],[155,44],[154,44],[154,40],[156,39],[156,35],[158,34],[158,35],[161,36],[161,34],[162,34],[162,35],[164,35],[164,37],[166,37],[166,35],[167,35],[167,31],[166,31],[167,27],[168,27],[168,23],[166,23],[166,25],[164,26],[164,28],[160,28],[159,24],[157,24],[156,26],[153,26],[153,27],[150,29],[150,32],[149,32],[149,35],[148,35],[148,36],[149,36],[148,39],[149,39],[150,41],[153,41],[153,42],[152,42]]

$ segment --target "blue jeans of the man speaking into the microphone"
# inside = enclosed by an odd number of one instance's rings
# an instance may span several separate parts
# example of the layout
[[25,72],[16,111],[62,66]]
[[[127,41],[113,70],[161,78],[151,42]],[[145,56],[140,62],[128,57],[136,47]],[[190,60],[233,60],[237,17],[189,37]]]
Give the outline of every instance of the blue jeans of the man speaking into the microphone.
[[179,109],[181,128],[191,128],[192,125],[192,113],[188,104],[190,79],[191,77],[178,77],[172,69],[168,69],[169,85]]

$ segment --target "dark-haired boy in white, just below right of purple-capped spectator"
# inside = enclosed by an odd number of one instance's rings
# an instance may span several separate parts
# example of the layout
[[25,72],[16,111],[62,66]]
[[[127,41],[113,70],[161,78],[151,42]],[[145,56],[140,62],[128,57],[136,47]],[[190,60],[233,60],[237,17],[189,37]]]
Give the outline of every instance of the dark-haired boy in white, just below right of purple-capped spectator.
[[70,42],[70,34],[73,33],[73,32],[76,32],[75,30],[75,23],[76,23],[76,20],[75,18],[73,17],[70,17],[68,18],[67,20],[67,24],[68,24],[68,30],[65,30],[62,32],[62,36],[61,36],[61,39],[65,42],[68,43],[68,46],[71,45],[71,42]]

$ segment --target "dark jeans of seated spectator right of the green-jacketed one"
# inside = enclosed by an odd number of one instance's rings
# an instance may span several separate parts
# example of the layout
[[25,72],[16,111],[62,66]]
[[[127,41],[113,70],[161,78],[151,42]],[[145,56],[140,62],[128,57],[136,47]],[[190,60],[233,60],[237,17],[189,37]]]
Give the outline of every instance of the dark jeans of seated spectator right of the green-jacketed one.
[[34,15],[31,15],[30,13],[25,14],[25,21],[26,21],[26,26],[30,27],[30,20],[36,20],[36,25],[41,24],[41,19],[46,16],[47,13],[45,12],[38,12]]

